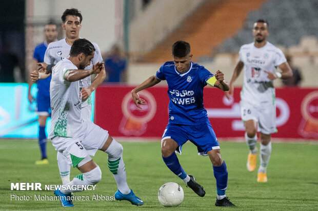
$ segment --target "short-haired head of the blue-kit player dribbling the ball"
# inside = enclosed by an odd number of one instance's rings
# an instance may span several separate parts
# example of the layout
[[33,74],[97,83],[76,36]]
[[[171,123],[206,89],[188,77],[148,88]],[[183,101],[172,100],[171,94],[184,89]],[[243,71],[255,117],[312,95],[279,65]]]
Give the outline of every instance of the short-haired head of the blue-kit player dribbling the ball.
[[178,72],[188,71],[192,56],[188,42],[179,40],[172,45],[172,58]]

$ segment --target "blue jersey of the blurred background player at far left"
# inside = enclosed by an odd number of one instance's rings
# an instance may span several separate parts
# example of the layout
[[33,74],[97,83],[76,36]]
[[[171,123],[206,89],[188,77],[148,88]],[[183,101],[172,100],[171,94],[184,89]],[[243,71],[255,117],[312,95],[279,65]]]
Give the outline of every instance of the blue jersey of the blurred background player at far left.
[[[34,49],[33,58],[38,62],[43,62],[45,51],[48,47],[47,42],[42,42],[41,44],[36,45]],[[50,82],[51,82],[51,75],[46,79],[38,80],[37,81],[37,95],[44,95],[45,97],[50,97]]]

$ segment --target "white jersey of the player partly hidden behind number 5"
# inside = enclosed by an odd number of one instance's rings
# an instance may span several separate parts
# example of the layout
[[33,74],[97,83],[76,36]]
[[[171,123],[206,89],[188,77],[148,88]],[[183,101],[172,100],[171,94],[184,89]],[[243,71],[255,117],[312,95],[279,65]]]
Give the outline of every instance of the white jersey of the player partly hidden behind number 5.
[[[89,66],[87,66],[85,69],[92,68],[93,64],[96,64],[97,62],[102,62],[102,54],[100,51],[100,48],[95,42],[92,42],[95,48],[95,54],[94,58],[92,59],[92,62]],[[48,45],[48,48],[46,49],[45,56],[44,56],[44,62],[46,64],[56,64],[57,62],[61,61],[64,58],[67,58],[70,54],[71,45],[67,44],[66,39],[61,39],[56,42],[51,42]],[[83,79],[83,87],[89,87],[91,85],[91,77],[88,76],[87,78]],[[83,102],[83,107],[87,106],[88,104],[91,104],[91,96]]]

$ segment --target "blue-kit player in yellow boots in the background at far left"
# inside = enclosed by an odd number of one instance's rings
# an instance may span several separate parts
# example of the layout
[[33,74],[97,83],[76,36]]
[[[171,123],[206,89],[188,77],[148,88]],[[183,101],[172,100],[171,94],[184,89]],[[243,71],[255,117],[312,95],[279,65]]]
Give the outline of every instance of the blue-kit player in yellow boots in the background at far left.
[[[36,69],[36,63],[43,62],[45,51],[50,42],[56,41],[57,31],[56,25],[53,22],[49,22],[45,25],[44,28],[45,41],[36,45],[33,53],[32,61],[32,71]],[[46,155],[46,139],[47,135],[45,133],[46,120],[48,116],[51,115],[51,106],[50,106],[50,82],[51,76],[46,79],[37,81],[37,96],[36,104],[38,114],[38,145],[41,150],[42,159],[35,161],[36,165],[45,165],[49,164],[49,160]],[[34,101],[33,96],[31,95],[31,87],[33,82],[29,80],[29,90],[28,90],[28,99],[32,103]]]

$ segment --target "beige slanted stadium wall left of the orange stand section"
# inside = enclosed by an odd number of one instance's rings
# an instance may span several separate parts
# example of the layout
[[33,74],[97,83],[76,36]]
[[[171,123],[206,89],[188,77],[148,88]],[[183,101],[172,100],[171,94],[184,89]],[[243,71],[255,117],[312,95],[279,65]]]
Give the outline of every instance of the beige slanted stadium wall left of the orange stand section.
[[152,0],[144,10],[138,11],[130,22],[130,53],[145,53],[153,49],[205,1]]

